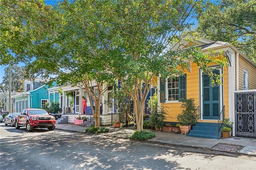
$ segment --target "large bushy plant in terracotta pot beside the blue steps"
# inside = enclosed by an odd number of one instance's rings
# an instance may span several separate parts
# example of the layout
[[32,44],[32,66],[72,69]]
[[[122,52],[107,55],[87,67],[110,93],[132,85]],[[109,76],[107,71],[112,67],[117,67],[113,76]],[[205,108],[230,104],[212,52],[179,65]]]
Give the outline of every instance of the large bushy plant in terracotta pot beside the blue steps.
[[197,122],[195,99],[190,98],[187,100],[182,99],[180,108],[183,109],[182,113],[177,116],[177,120],[180,123],[180,130],[183,134],[189,133],[192,125]]

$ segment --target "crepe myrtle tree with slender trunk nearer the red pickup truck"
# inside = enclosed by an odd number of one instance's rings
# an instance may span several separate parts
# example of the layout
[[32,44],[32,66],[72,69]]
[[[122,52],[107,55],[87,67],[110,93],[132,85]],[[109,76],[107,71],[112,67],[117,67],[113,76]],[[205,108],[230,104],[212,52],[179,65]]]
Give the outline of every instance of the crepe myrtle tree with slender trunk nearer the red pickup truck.
[[92,107],[95,127],[100,127],[100,99],[108,85],[115,83],[116,77],[107,67],[108,51],[102,45],[106,44],[104,36],[109,33],[98,22],[101,16],[94,15],[97,9],[91,8],[89,2],[59,3],[56,10],[63,20],[35,47],[34,51],[41,53],[34,53],[34,60],[26,65],[26,69],[30,76],[50,79],[49,84],[57,81],[58,85],[71,83],[84,89]]

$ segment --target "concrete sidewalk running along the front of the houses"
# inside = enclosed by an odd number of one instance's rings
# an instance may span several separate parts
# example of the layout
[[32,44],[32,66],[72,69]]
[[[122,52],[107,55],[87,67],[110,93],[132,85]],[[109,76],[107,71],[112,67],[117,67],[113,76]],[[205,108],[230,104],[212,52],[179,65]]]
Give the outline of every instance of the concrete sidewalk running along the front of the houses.
[[[72,123],[56,124],[56,129],[72,132],[85,132],[86,128],[87,127],[74,125]],[[110,131],[108,133],[105,133],[104,135],[117,138],[126,138],[127,133],[136,130],[135,127],[108,128],[110,128]],[[229,152],[233,154],[240,153],[256,156],[256,138],[231,137],[221,139],[208,139],[190,137],[186,136],[186,134],[180,134],[176,132],[163,132],[151,129],[144,130],[152,131],[156,134],[156,137],[148,139],[146,142],[169,144],[173,146],[186,146],[193,148],[207,148],[220,152]]]

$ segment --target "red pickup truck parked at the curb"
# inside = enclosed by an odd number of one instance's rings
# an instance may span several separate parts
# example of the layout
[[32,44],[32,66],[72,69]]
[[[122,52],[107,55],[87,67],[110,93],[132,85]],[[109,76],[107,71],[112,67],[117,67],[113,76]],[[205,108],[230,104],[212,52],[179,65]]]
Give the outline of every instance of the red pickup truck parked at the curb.
[[55,117],[51,116],[44,109],[23,109],[20,115],[16,115],[15,128],[26,127],[28,132],[34,128],[48,128],[49,130],[55,129]]

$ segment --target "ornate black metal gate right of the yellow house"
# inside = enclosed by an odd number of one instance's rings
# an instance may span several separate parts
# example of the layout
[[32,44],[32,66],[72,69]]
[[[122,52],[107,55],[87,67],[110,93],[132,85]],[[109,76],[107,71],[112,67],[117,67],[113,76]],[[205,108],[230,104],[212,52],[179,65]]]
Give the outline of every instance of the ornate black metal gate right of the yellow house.
[[256,137],[255,91],[235,93],[236,136]]

